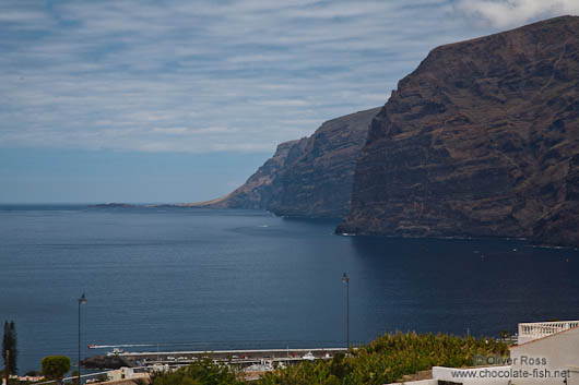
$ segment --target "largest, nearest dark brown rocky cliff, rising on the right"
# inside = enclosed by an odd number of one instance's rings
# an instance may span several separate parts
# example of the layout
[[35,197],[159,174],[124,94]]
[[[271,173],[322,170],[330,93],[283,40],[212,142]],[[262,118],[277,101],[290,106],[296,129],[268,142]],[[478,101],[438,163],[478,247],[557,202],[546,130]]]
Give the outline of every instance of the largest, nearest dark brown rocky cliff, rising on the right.
[[579,17],[433,50],[374,119],[336,231],[579,245]]

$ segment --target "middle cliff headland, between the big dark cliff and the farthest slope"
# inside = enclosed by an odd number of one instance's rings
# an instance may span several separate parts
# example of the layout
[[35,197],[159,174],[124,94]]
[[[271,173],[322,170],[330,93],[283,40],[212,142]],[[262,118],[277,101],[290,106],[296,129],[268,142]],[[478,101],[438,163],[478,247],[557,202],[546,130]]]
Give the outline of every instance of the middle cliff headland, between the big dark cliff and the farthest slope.
[[269,209],[277,215],[343,217],[350,210],[356,160],[379,111],[324,122],[307,140],[304,154],[274,179],[275,198]]

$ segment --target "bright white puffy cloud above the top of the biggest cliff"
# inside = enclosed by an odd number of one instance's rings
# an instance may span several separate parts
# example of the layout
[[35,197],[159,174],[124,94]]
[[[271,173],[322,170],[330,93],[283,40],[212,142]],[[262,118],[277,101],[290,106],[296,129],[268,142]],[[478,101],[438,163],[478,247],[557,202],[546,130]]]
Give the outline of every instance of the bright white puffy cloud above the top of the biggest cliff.
[[499,28],[553,16],[579,14],[577,0],[460,0],[458,9]]

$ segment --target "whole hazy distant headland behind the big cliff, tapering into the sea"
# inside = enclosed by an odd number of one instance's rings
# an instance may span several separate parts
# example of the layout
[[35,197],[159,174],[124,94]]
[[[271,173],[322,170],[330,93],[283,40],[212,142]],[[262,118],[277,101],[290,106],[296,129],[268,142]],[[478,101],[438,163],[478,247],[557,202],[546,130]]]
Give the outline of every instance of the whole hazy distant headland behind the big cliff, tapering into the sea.
[[309,137],[282,143],[244,185],[224,197],[193,205],[342,217],[350,209],[356,159],[379,110],[329,120]]

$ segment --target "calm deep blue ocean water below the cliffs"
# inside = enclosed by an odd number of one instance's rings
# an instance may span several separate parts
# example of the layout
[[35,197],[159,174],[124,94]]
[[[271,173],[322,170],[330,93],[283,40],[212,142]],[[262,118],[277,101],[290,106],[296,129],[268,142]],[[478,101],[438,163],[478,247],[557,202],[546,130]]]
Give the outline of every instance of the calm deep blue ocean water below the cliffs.
[[579,318],[579,252],[522,241],[333,234],[335,221],[199,208],[0,206],[0,321],[20,372],[129,350],[345,346],[386,332],[497,335]]

